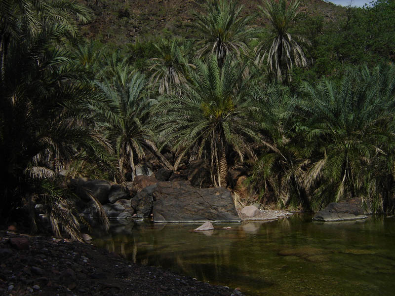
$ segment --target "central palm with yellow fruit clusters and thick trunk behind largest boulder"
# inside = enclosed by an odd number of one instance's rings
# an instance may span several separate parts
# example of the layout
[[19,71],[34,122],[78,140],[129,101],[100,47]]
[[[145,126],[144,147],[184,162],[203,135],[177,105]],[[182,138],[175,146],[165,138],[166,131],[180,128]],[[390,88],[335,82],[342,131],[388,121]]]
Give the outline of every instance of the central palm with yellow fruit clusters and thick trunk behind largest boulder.
[[248,118],[254,107],[243,70],[235,59],[225,61],[222,69],[215,56],[207,63],[197,60],[189,72],[190,86],[180,95],[162,97],[155,106],[163,145],[178,154],[175,169],[187,153],[194,153],[211,162],[213,184],[226,186],[229,153],[236,151],[240,161],[245,153],[254,155],[248,143],[259,136]]

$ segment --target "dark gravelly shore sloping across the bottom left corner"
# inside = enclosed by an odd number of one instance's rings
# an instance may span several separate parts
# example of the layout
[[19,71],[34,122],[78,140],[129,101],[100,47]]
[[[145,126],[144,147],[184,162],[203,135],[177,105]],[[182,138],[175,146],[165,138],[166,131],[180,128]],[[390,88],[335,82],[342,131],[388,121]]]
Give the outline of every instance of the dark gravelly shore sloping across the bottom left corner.
[[157,267],[67,239],[0,231],[0,295],[237,296]]

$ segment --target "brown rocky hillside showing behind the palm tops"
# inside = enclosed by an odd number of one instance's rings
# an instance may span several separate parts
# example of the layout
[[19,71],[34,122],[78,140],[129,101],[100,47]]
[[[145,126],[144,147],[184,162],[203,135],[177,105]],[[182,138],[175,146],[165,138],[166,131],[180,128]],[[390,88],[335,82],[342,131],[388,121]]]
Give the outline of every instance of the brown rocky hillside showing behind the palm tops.
[[[82,27],[85,37],[127,44],[157,36],[195,37],[194,12],[204,0],[79,0],[90,7],[94,19]],[[262,0],[239,0],[243,14],[257,14],[254,25],[264,25],[257,5]],[[345,8],[322,0],[301,0],[302,9],[326,19],[341,17]]]

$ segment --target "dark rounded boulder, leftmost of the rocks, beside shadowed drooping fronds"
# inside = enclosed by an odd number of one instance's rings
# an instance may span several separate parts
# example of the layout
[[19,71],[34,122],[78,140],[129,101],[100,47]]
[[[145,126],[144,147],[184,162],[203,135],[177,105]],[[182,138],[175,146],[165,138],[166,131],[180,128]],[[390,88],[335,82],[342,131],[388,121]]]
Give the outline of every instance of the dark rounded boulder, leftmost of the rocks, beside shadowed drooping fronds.
[[90,180],[86,182],[78,182],[76,186],[76,194],[84,201],[89,201],[89,194],[94,196],[102,205],[108,203],[108,194],[111,185],[104,180]]

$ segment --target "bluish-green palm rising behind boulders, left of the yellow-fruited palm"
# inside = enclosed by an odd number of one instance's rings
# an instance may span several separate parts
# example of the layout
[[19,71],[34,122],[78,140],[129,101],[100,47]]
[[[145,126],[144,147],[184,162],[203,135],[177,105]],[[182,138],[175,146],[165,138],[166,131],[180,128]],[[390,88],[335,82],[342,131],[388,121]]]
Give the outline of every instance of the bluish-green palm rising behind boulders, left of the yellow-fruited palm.
[[96,82],[107,100],[106,104],[92,107],[100,115],[99,125],[115,148],[119,173],[131,171],[134,178],[135,163],[145,158],[147,149],[153,151],[167,169],[172,169],[152,141],[154,134],[147,125],[149,108],[155,101],[143,96],[146,84],[144,75],[123,65],[112,72],[115,76],[111,81]]

